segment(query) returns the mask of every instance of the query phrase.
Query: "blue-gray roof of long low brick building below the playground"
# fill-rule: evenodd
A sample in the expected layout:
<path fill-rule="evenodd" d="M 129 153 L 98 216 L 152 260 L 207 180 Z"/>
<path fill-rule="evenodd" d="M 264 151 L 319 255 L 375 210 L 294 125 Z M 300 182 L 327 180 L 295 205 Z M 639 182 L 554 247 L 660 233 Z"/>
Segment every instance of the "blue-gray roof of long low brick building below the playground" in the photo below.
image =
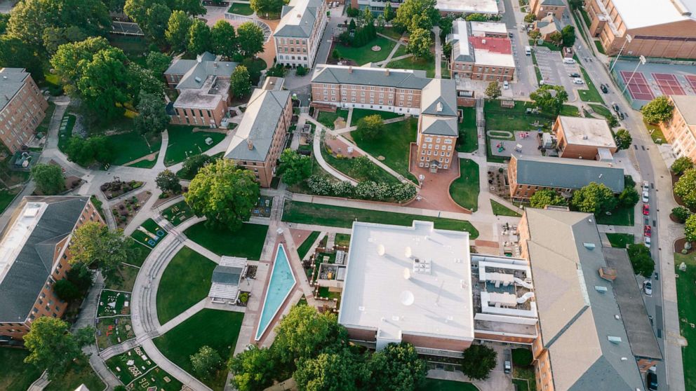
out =
<path fill-rule="evenodd" d="M 554 188 L 581 188 L 590 182 L 605 184 L 614 193 L 624 190 L 624 169 L 596 160 L 514 155 L 517 183 Z"/>

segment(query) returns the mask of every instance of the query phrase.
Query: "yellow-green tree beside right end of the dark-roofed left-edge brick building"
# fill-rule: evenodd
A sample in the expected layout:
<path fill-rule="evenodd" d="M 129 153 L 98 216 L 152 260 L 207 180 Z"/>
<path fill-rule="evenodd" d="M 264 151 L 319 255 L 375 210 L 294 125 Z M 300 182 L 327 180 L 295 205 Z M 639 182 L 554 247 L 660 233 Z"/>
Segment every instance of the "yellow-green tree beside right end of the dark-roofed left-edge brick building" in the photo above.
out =
<path fill-rule="evenodd" d="M 123 235 L 123 230 L 109 231 L 107 226 L 96 221 L 86 221 L 73 233 L 70 263 L 95 265 L 105 277 L 116 277 L 121 262 L 127 262 L 133 255 L 130 240 Z"/>

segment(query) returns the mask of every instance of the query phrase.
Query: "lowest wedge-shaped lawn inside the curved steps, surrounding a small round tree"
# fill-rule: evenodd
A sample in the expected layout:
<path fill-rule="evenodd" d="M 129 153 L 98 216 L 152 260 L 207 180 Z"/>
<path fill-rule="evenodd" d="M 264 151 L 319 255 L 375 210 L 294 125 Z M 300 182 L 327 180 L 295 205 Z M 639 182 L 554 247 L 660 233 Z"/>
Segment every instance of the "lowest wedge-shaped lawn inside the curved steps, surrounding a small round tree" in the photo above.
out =
<path fill-rule="evenodd" d="M 243 317 L 243 313 L 201 310 L 167 334 L 155 338 L 154 344 L 163 355 L 189 373 L 192 373 L 189 356 L 196 354 L 204 345 L 217 350 L 226 363 L 234 351 Z M 223 369 L 218 371 L 216 376 L 201 380 L 213 390 L 222 390 L 226 378 L 227 369 L 223 365 Z"/>

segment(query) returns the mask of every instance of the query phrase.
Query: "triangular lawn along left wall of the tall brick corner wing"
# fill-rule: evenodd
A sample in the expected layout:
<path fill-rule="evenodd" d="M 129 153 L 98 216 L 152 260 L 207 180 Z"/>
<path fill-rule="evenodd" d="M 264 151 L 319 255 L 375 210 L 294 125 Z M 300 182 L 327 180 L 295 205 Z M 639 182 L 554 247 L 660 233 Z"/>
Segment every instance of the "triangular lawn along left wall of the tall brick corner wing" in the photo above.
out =
<path fill-rule="evenodd" d="M 410 143 L 415 142 L 417 126 L 415 118 L 408 118 L 406 121 L 384 125 L 382 135 L 377 139 L 363 139 L 357 132 L 352 132 L 351 136 L 363 151 L 377 159 L 383 156 L 382 163 L 417 183 L 413 174 L 408 172 Z"/>

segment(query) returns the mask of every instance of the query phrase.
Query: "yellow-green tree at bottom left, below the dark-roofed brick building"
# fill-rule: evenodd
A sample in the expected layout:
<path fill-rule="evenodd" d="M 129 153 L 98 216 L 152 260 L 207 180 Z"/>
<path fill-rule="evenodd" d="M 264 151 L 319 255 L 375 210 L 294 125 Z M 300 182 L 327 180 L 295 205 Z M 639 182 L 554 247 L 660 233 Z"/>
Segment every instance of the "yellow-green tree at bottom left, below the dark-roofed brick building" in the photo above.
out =
<path fill-rule="evenodd" d="M 81 348 L 94 342 L 94 329 L 86 327 L 76 333 L 70 332 L 70 325 L 56 317 L 42 316 L 32 322 L 32 328 L 24 336 L 24 345 L 29 355 L 24 362 L 48 372 L 53 380 L 65 373 L 74 359 L 81 359 Z"/>

